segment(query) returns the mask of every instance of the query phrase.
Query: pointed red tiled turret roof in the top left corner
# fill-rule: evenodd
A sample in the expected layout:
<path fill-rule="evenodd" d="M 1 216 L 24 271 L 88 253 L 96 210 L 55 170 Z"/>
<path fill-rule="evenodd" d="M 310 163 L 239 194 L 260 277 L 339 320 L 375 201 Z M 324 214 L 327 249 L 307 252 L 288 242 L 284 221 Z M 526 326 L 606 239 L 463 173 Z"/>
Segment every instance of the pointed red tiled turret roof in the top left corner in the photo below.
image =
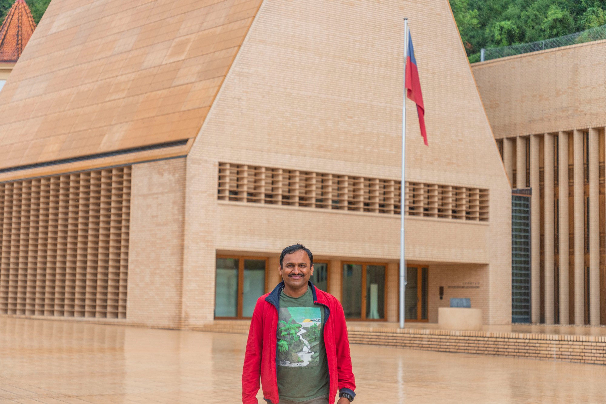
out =
<path fill-rule="evenodd" d="M 25 0 L 15 0 L 0 27 L 0 62 L 16 62 L 35 29 Z"/>

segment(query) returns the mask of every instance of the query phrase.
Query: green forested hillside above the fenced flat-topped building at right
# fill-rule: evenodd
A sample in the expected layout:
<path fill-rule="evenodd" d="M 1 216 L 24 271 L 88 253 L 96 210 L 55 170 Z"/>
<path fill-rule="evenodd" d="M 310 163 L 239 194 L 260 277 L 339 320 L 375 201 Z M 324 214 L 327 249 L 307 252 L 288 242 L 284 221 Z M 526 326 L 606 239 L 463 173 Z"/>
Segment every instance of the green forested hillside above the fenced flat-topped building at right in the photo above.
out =
<path fill-rule="evenodd" d="M 481 48 L 554 38 L 606 24 L 606 0 L 450 0 L 470 62 Z"/>

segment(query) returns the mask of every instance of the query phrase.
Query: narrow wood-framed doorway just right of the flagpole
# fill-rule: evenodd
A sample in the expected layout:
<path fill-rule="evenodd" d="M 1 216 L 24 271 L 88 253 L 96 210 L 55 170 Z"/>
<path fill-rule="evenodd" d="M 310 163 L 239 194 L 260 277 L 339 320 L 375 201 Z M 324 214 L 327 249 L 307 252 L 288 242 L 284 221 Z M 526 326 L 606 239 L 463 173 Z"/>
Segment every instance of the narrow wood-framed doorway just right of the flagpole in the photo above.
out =
<path fill-rule="evenodd" d="M 426 322 L 428 300 L 428 269 L 423 266 L 406 267 L 406 294 L 404 297 L 404 318 Z"/>

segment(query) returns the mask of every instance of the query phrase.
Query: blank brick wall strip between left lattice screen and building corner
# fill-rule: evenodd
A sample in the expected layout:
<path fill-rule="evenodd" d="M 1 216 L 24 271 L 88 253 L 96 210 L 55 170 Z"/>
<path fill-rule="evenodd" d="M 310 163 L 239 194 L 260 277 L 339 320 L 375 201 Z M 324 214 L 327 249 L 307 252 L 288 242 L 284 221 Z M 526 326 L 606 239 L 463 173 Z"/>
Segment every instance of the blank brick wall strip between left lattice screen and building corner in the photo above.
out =
<path fill-rule="evenodd" d="M 185 159 L 135 164 L 127 321 L 181 326 Z"/>

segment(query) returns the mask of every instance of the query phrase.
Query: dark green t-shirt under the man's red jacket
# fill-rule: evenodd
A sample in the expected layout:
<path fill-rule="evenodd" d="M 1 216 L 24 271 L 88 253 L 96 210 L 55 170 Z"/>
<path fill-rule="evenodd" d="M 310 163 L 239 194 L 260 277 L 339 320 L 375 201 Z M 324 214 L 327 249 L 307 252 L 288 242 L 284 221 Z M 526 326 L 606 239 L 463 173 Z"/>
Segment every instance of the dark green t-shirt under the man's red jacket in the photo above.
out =
<path fill-rule="evenodd" d="M 328 394 L 324 347 L 324 306 L 313 303 L 311 288 L 301 297 L 280 294 L 278 392 L 280 400 L 306 401 Z"/>

